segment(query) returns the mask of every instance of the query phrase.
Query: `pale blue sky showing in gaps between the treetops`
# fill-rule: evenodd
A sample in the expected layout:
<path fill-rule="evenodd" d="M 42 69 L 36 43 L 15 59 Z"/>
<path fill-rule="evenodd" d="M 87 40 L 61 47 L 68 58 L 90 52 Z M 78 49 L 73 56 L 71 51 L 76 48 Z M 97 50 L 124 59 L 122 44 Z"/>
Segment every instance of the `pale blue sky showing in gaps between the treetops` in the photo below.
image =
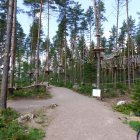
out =
<path fill-rule="evenodd" d="M 89 6 L 93 6 L 93 0 L 75 0 L 78 1 L 79 3 L 82 4 L 82 8 L 85 10 Z M 116 0 L 103 0 L 105 3 L 105 17 L 108 19 L 108 21 L 103 23 L 104 27 L 104 36 L 106 38 L 109 37 L 110 29 L 113 25 L 116 25 Z M 18 0 L 18 7 L 25 9 L 25 10 L 30 10 L 29 8 L 25 7 L 23 4 L 23 0 Z M 129 15 L 133 17 L 133 19 L 136 19 L 136 25 L 138 23 L 138 15 L 137 12 L 140 12 L 140 0 L 129 0 Z M 26 14 L 18 14 L 17 16 L 18 21 L 22 25 L 24 32 L 26 34 L 29 33 L 30 25 L 32 23 L 32 18 L 27 16 Z M 47 14 L 43 14 L 43 30 L 44 33 L 47 34 Z M 126 7 L 123 6 L 120 9 L 120 16 L 119 16 L 119 27 L 121 27 L 123 20 L 126 19 Z M 56 14 L 51 14 L 50 15 L 50 38 L 52 38 L 56 31 L 57 31 L 57 15 Z M 94 34 L 93 34 L 94 37 Z"/>

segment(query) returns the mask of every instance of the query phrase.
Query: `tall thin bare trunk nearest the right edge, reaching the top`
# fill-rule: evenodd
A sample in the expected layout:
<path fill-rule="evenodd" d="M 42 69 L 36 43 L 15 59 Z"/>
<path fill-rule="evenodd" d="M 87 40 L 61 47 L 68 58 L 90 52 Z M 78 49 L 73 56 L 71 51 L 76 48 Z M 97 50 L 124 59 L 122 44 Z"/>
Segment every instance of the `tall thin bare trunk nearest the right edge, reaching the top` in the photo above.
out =
<path fill-rule="evenodd" d="M 130 24 L 129 24 L 129 14 L 128 14 L 128 0 L 126 0 L 126 13 L 127 13 L 127 33 L 128 33 L 128 58 L 127 58 L 127 68 L 128 68 L 128 88 L 131 88 L 131 79 L 130 79 Z"/>

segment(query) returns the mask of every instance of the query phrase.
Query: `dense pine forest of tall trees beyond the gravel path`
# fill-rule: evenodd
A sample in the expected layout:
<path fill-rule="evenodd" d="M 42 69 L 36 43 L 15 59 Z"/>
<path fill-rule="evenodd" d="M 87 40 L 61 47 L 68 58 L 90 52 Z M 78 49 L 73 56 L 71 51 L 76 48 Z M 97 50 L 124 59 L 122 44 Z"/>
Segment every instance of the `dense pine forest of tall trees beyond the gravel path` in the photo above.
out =
<path fill-rule="evenodd" d="M 101 89 L 103 97 L 134 94 L 139 101 L 140 22 L 129 14 L 128 0 L 115 2 L 116 24 L 107 38 L 104 0 L 93 0 L 87 10 L 74 0 L 24 0 L 29 11 L 19 8 L 17 0 L 0 1 L 0 108 L 7 107 L 8 94 L 44 82 L 88 96 L 93 88 Z M 122 6 L 126 17 L 119 26 Z M 29 34 L 17 20 L 20 13 L 32 18 Z M 51 13 L 58 15 L 52 39 Z"/>

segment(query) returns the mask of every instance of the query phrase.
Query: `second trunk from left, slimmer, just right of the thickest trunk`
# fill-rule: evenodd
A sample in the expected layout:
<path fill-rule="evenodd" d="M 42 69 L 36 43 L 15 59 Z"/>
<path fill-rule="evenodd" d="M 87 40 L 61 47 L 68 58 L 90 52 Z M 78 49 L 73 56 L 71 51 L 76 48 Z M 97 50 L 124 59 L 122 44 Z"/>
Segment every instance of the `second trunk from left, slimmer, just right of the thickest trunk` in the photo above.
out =
<path fill-rule="evenodd" d="M 11 42 L 11 74 L 10 74 L 10 88 L 14 86 L 14 69 L 15 69 L 15 53 L 16 53 L 16 13 L 17 0 L 14 0 L 13 12 L 13 28 L 12 28 L 12 42 Z"/>

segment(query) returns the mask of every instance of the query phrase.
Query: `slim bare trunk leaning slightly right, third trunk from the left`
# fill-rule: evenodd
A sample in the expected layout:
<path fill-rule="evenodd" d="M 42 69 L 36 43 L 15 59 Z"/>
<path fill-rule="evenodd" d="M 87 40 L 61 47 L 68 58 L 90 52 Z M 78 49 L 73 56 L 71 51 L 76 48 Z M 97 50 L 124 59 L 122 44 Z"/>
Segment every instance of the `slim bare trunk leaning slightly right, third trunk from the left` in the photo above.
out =
<path fill-rule="evenodd" d="M 39 77 L 39 48 L 40 48 L 42 5 L 43 5 L 42 0 L 40 0 L 40 17 L 39 17 L 38 39 L 37 39 L 36 84 L 38 84 L 38 77 Z"/>

